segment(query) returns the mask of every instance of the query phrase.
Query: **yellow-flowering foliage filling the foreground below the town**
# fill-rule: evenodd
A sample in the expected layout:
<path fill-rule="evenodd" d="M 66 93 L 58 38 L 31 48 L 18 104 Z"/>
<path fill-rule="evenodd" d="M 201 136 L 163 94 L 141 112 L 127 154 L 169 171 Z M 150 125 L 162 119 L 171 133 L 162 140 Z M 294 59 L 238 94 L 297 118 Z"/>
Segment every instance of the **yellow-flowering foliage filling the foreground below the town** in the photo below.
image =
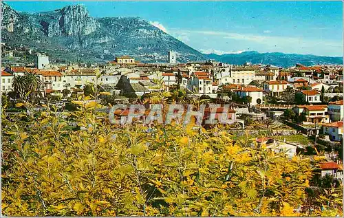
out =
<path fill-rule="evenodd" d="M 239 146 L 225 129 L 118 129 L 89 105 L 28 119 L 3 116 L 6 216 L 343 215 L 341 193 L 307 197 L 309 158 Z"/>

